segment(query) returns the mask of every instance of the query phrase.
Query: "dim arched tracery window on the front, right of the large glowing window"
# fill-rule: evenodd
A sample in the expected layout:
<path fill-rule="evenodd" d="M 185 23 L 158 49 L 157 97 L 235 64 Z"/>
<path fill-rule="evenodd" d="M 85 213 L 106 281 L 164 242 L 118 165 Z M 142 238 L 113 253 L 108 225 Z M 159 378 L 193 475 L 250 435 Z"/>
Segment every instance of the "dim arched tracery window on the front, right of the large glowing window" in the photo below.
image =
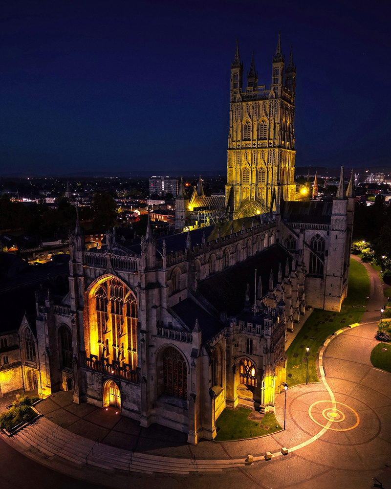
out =
<path fill-rule="evenodd" d="M 173 347 L 163 355 L 163 391 L 187 399 L 187 367 L 183 356 Z"/>

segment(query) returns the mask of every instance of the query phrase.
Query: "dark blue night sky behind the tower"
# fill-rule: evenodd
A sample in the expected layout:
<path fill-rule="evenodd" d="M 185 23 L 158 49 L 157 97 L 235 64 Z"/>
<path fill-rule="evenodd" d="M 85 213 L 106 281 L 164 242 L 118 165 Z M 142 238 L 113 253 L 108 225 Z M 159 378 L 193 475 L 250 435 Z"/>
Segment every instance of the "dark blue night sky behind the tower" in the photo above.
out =
<path fill-rule="evenodd" d="M 390 15 L 371 2 L 4 2 L 0 173 L 223 170 L 230 63 L 297 65 L 296 165 L 390 163 Z"/>

